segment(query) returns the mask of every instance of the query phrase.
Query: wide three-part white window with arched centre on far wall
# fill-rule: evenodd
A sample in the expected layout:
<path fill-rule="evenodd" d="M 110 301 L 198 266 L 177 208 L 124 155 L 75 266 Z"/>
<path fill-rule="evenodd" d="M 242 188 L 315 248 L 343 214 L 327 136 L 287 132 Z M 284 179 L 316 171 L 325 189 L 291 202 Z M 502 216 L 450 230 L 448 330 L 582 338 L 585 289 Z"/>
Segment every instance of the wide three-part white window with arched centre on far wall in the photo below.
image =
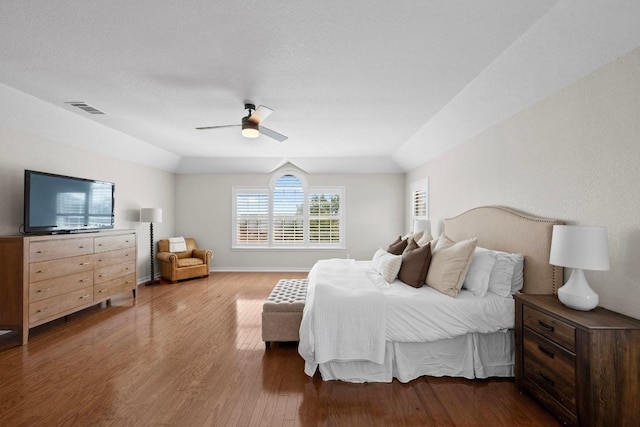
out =
<path fill-rule="evenodd" d="M 233 188 L 235 248 L 343 248 L 344 189 L 307 188 L 294 173 Z"/>

